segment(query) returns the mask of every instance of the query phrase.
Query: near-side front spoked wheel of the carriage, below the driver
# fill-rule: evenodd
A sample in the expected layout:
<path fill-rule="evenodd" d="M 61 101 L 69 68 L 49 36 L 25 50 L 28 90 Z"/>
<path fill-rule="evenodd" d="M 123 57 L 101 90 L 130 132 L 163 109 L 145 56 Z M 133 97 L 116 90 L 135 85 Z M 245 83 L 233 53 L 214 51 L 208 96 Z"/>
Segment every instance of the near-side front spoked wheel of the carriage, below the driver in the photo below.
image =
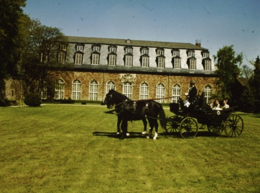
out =
<path fill-rule="evenodd" d="M 198 133 L 198 123 L 194 118 L 187 117 L 181 121 L 180 134 L 183 138 L 194 138 Z"/>

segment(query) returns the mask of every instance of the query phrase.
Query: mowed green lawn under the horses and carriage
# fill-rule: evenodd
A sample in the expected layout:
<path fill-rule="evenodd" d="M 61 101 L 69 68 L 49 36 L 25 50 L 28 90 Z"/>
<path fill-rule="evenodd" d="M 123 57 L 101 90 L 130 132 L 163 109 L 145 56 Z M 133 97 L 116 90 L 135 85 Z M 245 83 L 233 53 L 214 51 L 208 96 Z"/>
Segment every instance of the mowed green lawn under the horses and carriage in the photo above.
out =
<path fill-rule="evenodd" d="M 164 107 L 166 115 L 172 115 Z M 260 115 L 239 138 L 116 136 L 96 105 L 0 108 L 0 192 L 260 192 Z"/>

